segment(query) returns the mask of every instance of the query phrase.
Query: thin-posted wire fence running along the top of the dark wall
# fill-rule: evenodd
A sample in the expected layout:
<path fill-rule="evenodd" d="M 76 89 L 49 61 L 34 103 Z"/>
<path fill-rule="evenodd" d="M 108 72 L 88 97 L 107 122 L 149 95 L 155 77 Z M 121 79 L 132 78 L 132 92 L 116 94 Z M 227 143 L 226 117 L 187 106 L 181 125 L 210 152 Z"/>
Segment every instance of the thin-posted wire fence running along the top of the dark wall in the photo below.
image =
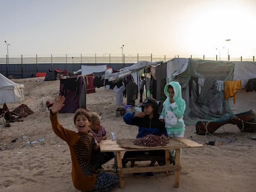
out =
<path fill-rule="evenodd" d="M 205 59 L 215 61 L 254 61 L 254 56 L 246 57 L 219 57 L 216 56 L 192 56 L 192 55 L 153 55 L 153 54 L 79 54 L 79 55 L 20 55 L 20 56 L 0 56 L 0 64 L 120 64 L 120 63 L 136 63 L 139 61 L 168 61 L 174 57 L 184 57 L 193 59 Z"/>

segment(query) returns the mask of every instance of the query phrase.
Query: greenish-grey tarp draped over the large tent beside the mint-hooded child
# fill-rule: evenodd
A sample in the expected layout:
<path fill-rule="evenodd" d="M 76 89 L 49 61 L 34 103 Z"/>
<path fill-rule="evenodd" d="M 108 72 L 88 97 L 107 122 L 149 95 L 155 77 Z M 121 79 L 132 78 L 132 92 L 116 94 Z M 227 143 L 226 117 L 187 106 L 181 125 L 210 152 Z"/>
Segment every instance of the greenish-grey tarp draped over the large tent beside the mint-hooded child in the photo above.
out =
<path fill-rule="evenodd" d="M 176 65 L 175 62 L 173 65 Z M 216 89 L 217 80 L 233 80 L 234 67 L 234 63 L 228 61 L 189 59 L 184 72 L 174 72 L 167 77 L 168 81 L 178 81 L 182 86 L 182 98 L 186 101 L 184 113 L 186 125 L 195 124 L 198 120 L 217 120 L 234 115 L 228 101 L 224 99 L 224 91 Z M 198 82 L 202 79 L 204 81 L 199 93 Z"/>

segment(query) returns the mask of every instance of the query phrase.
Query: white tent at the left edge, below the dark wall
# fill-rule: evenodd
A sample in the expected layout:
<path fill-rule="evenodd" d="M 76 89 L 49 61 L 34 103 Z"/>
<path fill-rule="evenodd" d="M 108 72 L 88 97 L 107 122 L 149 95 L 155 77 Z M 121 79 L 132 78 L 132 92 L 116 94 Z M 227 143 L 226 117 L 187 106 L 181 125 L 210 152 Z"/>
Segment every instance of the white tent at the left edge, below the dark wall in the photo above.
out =
<path fill-rule="evenodd" d="M 0 73 L 0 104 L 24 100 L 23 84 L 14 83 Z"/>

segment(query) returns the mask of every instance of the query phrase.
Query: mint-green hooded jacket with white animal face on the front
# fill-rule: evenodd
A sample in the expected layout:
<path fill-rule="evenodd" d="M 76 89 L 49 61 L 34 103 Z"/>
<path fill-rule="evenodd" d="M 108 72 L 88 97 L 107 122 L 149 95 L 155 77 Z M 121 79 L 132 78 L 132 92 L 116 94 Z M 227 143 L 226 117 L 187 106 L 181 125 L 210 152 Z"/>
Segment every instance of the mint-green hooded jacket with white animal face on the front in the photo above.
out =
<path fill-rule="evenodd" d="M 169 101 L 169 85 L 171 85 L 174 90 L 173 103 Z M 159 119 L 164 119 L 167 132 L 184 131 L 185 124 L 183 115 L 186 108 L 186 102 L 181 96 L 181 85 L 176 81 L 171 81 L 164 86 L 164 94 L 167 98 L 163 102 L 163 111 L 161 112 Z"/>

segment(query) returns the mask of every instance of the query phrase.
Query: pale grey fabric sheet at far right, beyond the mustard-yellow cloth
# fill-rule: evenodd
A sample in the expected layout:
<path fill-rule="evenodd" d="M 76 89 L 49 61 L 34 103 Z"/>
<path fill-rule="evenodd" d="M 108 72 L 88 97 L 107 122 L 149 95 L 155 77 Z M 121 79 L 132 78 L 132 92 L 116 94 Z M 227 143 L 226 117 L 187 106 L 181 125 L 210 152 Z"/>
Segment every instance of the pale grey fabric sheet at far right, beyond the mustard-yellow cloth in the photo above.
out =
<path fill-rule="evenodd" d="M 241 80 L 242 88 L 245 88 L 249 79 L 256 78 L 255 62 L 236 61 L 234 65 L 234 80 Z"/>

